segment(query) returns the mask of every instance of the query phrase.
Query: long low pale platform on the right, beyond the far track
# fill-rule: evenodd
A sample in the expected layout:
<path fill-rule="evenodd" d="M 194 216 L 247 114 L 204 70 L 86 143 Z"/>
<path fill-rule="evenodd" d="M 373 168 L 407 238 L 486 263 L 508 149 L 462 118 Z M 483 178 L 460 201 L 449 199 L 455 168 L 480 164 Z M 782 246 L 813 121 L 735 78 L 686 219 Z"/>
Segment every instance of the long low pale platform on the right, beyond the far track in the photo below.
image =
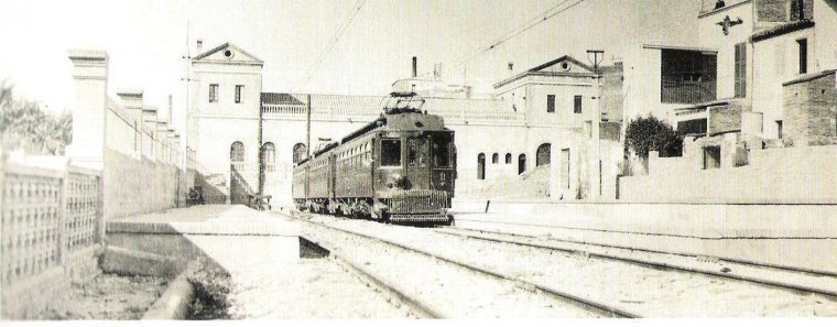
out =
<path fill-rule="evenodd" d="M 455 200 L 456 226 L 837 274 L 836 205 Z"/>

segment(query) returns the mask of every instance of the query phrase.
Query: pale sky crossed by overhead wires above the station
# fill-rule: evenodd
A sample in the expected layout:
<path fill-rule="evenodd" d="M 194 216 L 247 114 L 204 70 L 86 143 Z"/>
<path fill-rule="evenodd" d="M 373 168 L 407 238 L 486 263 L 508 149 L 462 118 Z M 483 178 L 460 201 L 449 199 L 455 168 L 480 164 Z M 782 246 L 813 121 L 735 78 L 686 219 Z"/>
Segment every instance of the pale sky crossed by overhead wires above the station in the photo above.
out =
<path fill-rule="evenodd" d="M 580 3 L 472 56 L 551 8 Z M 15 95 L 62 112 L 72 94 L 69 48 L 109 54 L 108 91 L 140 88 L 145 103 L 167 107 L 185 126 L 187 53 L 233 43 L 264 61 L 263 91 L 383 95 L 395 79 L 442 77 L 490 94 L 491 85 L 565 54 L 606 62 L 642 43 L 686 43 L 697 37 L 702 0 L 3 0 L 0 3 L 0 83 Z M 362 3 L 362 7 L 359 4 Z M 351 23 L 334 44 L 339 26 Z M 554 11 L 552 11 L 554 12 Z M 543 17 L 543 15 L 541 15 Z M 187 41 L 188 35 L 188 41 Z M 323 56 L 320 65 L 315 65 Z M 461 63 L 461 58 L 471 57 Z M 311 78 L 308 78 L 311 76 Z"/>

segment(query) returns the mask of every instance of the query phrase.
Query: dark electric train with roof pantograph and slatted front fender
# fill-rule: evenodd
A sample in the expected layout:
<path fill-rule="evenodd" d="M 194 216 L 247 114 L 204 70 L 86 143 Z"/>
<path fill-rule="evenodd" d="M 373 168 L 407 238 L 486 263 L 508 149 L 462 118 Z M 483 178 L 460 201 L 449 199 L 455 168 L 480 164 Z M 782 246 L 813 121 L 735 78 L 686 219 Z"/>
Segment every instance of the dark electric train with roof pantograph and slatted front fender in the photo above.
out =
<path fill-rule="evenodd" d="M 453 224 L 454 131 L 422 111 L 425 99 L 415 92 L 392 92 L 382 102 L 379 118 L 294 166 L 294 204 L 388 224 Z"/>

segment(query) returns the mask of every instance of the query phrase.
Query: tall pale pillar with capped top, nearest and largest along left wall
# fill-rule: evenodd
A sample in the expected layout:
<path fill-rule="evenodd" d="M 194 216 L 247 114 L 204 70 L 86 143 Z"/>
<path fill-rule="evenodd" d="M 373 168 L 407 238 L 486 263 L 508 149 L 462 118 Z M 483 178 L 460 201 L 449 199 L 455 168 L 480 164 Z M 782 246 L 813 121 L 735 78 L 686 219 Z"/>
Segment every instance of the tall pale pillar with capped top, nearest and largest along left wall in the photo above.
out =
<path fill-rule="evenodd" d="M 73 88 L 69 108 L 73 111 L 73 143 L 67 156 L 79 166 L 105 167 L 106 117 L 108 106 L 108 53 L 70 50 Z"/>

